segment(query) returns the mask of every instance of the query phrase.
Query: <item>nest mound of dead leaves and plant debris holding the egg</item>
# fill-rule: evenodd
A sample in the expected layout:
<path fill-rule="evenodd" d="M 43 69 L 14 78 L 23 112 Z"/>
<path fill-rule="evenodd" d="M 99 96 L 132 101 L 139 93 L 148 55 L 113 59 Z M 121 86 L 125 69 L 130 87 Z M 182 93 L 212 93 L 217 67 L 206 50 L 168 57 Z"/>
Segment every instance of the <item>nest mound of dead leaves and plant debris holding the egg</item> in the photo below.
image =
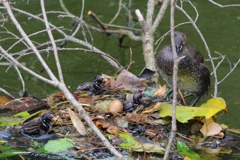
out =
<path fill-rule="evenodd" d="M 160 89 L 146 88 L 144 80 L 130 72 L 120 73 L 116 79 L 105 77 L 108 78 L 104 79 L 104 82 L 109 84 L 106 86 L 101 82 L 97 94 L 94 90 L 91 90 L 90 93 L 88 90 L 78 89 L 73 93 L 74 97 L 88 112 L 94 124 L 122 154 L 134 157 L 136 153 L 144 153 L 145 156 L 154 154 L 156 157 L 161 157 L 165 152 L 171 129 L 172 105 L 171 98 L 166 98 L 166 94 L 168 94 L 166 85 Z M 31 97 L 24 98 L 25 100 L 31 99 Z M 40 112 L 46 112 L 46 110 L 42 110 L 43 104 L 50 106 L 48 111 L 56 117 L 56 121 L 52 124 L 49 134 L 57 135 L 57 139 L 50 137 L 50 139 L 56 140 L 44 141 L 43 138 L 43 141 L 38 140 L 38 143 L 34 139 L 24 141 L 26 137 L 21 136 L 19 128 L 21 125 L 29 123 L 26 121 L 30 121 L 31 118 L 39 117 L 39 113 L 31 115 L 29 114 L 30 110 L 26 107 L 17 110 L 17 106 L 26 106 L 26 103 L 31 101 L 15 99 L 2 101 L 4 103 L 2 103 L 1 109 L 5 109 L 9 104 L 11 106 L 9 110 L 4 110 L 7 116 L 0 118 L 1 126 L 8 126 L 8 129 L 0 133 L 2 133 L 2 137 L 7 136 L 8 133 L 11 133 L 10 137 L 14 137 L 14 140 L 10 138 L 2 144 L 19 150 L 27 150 L 30 146 L 34 146 L 29 153 L 47 153 L 48 155 L 52 154 L 53 157 L 58 155 L 63 159 L 64 157 L 89 159 L 112 156 L 86 123 L 79 119 L 79 113 L 62 92 L 54 93 L 46 99 L 45 103 L 36 103 L 35 100 L 32 100 L 34 105 L 29 105 L 34 106 L 33 109 L 40 109 Z M 168 101 L 159 102 L 161 99 Z M 198 142 L 198 145 L 203 147 L 200 149 L 201 152 L 209 146 L 217 148 L 222 145 L 221 147 L 223 147 L 222 141 L 228 137 L 226 128 L 219 125 L 212 117 L 216 117 L 220 111 L 227 110 L 224 100 L 211 98 L 200 107 L 183 106 L 180 103 L 177 106 L 179 129 L 173 142 L 171 157 L 200 159 L 202 155 L 193 151 L 196 148 L 199 150 L 199 147 L 192 142 Z M 16 113 L 13 110 L 21 112 L 20 115 L 23 113 L 25 115 L 12 115 Z M 16 117 L 18 117 L 17 120 Z M 7 123 L 10 120 L 13 120 L 14 123 Z M 212 138 L 210 141 L 212 143 L 205 143 L 206 140 L 209 142 L 209 137 Z M 1 136 L 0 139 L 4 140 Z M 216 140 L 218 143 L 215 143 Z M 12 141 L 15 142 L 12 143 Z M 20 145 L 22 141 L 24 141 L 24 145 Z M 0 156 L 3 157 L 6 152 L 4 150 L 1 152 Z M 219 152 L 222 150 L 220 149 Z M 16 154 L 5 154 L 5 157 L 8 156 L 16 156 Z"/>

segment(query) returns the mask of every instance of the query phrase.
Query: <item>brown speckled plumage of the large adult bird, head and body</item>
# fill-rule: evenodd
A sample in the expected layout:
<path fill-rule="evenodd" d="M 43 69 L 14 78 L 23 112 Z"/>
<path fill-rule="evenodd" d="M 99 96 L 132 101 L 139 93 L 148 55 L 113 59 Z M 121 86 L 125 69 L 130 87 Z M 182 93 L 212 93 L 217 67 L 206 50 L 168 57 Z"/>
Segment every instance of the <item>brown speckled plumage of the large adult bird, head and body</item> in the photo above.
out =
<path fill-rule="evenodd" d="M 182 31 L 174 33 L 175 47 L 178 57 L 177 86 L 182 91 L 200 98 L 208 93 L 210 87 L 210 72 L 204 65 L 201 53 L 193 46 L 186 44 L 186 34 Z M 172 46 L 164 46 L 156 58 L 158 70 L 163 79 L 172 86 L 173 51 Z"/>

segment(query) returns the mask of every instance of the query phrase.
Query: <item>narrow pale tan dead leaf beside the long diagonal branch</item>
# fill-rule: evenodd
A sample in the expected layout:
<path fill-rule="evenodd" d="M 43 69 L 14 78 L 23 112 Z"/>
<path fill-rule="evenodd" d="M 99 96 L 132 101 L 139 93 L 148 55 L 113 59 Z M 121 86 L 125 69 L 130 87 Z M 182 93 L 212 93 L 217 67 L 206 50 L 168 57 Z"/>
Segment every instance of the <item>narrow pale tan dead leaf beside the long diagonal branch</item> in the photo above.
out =
<path fill-rule="evenodd" d="M 70 108 L 68 108 L 68 112 L 73 123 L 73 126 L 76 128 L 79 134 L 83 136 L 86 135 L 87 133 L 86 128 L 83 125 L 83 122 L 79 119 L 78 115 L 75 112 L 73 112 Z"/>

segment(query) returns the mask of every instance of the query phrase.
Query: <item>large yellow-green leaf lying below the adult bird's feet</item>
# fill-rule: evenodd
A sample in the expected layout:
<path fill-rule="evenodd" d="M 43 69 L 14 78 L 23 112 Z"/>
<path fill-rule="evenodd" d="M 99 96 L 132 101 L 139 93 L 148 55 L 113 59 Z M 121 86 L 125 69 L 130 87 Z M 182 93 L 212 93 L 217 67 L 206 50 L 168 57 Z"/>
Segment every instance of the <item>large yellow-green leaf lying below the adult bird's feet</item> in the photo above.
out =
<path fill-rule="evenodd" d="M 207 103 L 202 104 L 200 107 L 177 106 L 176 118 L 182 123 L 186 123 L 194 117 L 205 117 L 205 119 L 209 119 L 221 110 L 226 111 L 226 103 L 224 99 L 211 98 Z M 162 103 L 159 116 L 172 116 L 172 105 L 169 103 Z"/>

